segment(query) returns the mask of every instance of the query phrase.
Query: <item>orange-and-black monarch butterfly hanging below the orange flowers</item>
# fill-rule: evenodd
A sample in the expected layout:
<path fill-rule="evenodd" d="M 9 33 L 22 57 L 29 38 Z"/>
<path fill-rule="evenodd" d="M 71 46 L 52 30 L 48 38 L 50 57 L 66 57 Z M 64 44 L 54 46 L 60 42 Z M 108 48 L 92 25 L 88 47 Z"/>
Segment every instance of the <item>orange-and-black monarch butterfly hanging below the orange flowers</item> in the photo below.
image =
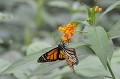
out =
<path fill-rule="evenodd" d="M 65 42 L 61 41 L 58 47 L 46 52 L 38 58 L 37 62 L 51 62 L 56 60 L 66 60 L 70 69 L 74 71 L 74 65 L 78 64 L 78 58 L 74 48 L 68 48 Z"/>

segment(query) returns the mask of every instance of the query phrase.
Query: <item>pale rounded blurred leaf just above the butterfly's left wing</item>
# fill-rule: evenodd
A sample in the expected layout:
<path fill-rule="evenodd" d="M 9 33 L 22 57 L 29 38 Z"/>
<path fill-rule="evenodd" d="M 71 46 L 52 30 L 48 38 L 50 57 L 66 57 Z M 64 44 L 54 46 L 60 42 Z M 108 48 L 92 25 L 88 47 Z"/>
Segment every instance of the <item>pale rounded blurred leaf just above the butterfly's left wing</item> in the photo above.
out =
<path fill-rule="evenodd" d="M 28 47 L 27 55 L 36 53 L 36 52 L 38 52 L 38 51 L 40 51 L 42 49 L 48 48 L 48 47 L 51 47 L 51 45 L 48 44 L 48 43 L 45 43 L 45 42 L 35 42 L 35 43 L 31 44 Z"/>

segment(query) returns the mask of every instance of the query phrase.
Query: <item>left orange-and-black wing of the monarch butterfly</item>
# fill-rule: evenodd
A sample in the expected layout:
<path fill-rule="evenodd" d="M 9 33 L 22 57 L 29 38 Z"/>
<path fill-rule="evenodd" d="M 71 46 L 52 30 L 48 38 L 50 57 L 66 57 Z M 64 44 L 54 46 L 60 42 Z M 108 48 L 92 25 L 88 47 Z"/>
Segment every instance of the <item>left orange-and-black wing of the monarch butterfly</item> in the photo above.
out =
<path fill-rule="evenodd" d="M 64 60 L 64 56 L 60 53 L 60 49 L 58 47 L 46 52 L 43 54 L 37 61 L 38 62 L 50 62 L 56 60 Z"/>

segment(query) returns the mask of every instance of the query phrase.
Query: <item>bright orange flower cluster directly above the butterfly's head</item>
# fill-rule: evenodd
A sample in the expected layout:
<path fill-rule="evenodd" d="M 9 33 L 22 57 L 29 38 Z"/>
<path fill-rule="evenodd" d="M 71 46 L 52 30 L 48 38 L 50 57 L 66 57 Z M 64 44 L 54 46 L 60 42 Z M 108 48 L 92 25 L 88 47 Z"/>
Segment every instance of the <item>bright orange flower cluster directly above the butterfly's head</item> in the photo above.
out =
<path fill-rule="evenodd" d="M 61 37 L 63 41 L 69 41 L 71 36 L 74 35 L 74 29 L 76 28 L 75 23 L 69 23 L 64 27 L 59 27 L 58 29 L 64 33 L 64 36 Z"/>

